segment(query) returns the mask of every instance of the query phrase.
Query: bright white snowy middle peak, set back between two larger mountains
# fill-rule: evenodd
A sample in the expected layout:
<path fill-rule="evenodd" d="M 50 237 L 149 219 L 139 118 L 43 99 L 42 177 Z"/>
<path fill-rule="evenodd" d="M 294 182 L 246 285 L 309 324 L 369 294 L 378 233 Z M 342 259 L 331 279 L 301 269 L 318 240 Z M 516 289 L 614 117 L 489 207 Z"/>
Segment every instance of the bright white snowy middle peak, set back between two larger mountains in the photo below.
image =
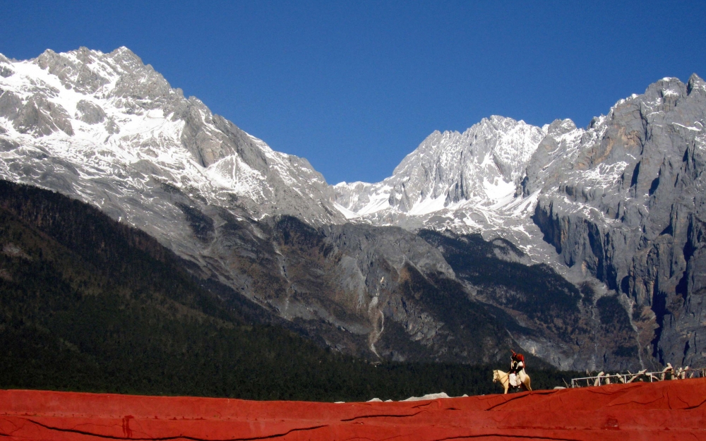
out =
<path fill-rule="evenodd" d="M 336 186 L 336 202 L 383 223 L 469 203 L 491 207 L 509 202 L 544 135 L 542 128 L 525 121 L 495 115 L 463 133 L 435 131 L 390 178 Z"/>

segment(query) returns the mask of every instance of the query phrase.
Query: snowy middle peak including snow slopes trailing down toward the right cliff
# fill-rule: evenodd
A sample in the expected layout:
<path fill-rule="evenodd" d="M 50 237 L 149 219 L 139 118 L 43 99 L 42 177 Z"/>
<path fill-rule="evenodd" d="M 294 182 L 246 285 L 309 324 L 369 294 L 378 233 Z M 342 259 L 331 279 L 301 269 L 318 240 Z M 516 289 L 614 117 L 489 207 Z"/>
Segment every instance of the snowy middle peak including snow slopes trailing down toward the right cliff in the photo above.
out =
<path fill-rule="evenodd" d="M 336 203 L 353 221 L 502 236 L 544 260 L 530 240 L 536 198 L 520 183 L 548 127 L 491 116 L 464 133 L 435 131 L 384 181 L 334 186 Z"/>

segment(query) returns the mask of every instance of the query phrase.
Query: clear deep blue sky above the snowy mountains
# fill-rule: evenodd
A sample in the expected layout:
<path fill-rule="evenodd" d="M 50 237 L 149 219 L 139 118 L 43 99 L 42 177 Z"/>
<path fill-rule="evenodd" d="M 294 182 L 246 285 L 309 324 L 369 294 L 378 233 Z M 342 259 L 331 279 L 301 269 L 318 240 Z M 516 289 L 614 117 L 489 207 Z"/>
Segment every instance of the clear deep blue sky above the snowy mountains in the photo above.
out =
<path fill-rule="evenodd" d="M 586 126 L 659 78 L 706 76 L 705 1 L 534 3 L 0 0 L 0 52 L 126 46 L 329 183 L 379 181 L 437 129 Z"/>

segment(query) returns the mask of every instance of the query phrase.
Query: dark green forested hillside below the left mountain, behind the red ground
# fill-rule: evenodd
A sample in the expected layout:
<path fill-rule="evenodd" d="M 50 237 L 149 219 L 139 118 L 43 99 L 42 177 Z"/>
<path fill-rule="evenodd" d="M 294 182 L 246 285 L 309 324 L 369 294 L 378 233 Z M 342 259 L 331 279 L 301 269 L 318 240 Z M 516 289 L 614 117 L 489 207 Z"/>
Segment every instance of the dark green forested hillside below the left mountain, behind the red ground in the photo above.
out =
<path fill-rule="evenodd" d="M 0 387 L 244 399 L 498 391 L 491 368 L 372 364 L 222 300 L 147 234 L 58 193 L 0 181 Z M 532 370 L 535 387 L 569 373 Z"/>

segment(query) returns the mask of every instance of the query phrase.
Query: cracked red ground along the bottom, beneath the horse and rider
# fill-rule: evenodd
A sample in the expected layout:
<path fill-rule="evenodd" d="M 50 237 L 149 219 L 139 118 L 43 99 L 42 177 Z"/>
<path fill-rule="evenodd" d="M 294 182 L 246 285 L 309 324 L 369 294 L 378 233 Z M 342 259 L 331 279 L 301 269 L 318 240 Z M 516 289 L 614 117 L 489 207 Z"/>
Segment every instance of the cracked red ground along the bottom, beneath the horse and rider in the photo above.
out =
<path fill-rule="evenodd" d="M 706 440 L 706 379 L 390 403 L 0 390 L 0 440 Z"/>

